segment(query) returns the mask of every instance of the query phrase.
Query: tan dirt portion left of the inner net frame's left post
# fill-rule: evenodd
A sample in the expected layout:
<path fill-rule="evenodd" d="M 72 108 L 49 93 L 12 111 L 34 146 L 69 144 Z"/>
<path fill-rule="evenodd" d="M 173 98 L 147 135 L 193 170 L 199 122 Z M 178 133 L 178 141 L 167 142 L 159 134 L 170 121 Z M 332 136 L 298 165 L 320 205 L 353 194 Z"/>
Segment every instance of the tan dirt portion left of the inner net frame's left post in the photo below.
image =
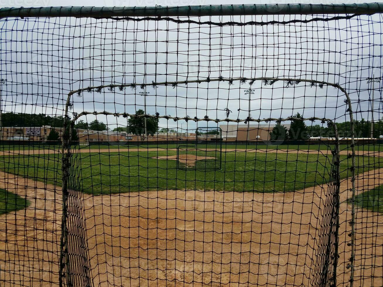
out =
<path fill-rule="evenodd" d="M 58 285 L 61 188 L 2 171 L 0 188 L 31 203 L 0 215 L 0 285 Z"/>

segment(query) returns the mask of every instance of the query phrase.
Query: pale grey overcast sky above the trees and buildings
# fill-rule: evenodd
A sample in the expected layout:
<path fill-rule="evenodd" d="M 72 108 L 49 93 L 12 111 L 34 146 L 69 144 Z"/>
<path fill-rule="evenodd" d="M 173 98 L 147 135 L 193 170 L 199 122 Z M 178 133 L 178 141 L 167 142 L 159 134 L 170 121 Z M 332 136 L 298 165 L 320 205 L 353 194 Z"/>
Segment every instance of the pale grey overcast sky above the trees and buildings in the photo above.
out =
<path fill-rule="evenodd" d="M 61 6 L 52 0 L 1 1 L 2 7 Z M 344 2 L 344 1 L 342 1 Z M 354 2 L 354 1 L 352 1 Z M 364 1 L 363 1 L 364 2 Z M 76 6 L 231 4 L 207 0 L 67 1 Z M 247 3 L 247 2 L 243 2 Z M 253 2 L 254 3 L 254 2 Z M 263 2 L 274 3 L 274 2 Z M 281 3 L 281 2 L 278 2 Z M 315 3 L 315 2 L 303 2 Z M 323 1 L 321 3 L 324 3 Z M 332 1 L 332 3 L 337 3 Z M 326 18 L 326 15 L 316 15 Z M 213 16 L 195 21 L 307 20 L 309 15 Z M 180 17 L 187 20 L 186 17 Z M 67 93 L 110 83 L 151 83 L 228 77 L 290 77 L 339 83 L 353 100 L 355 117 L 371 118 L 371 84 L 381 77 L 381 15 L 311 23 L 216 26 L 169 21 L 115 21 L 93 18 L 29 18 L 0 21 L 3 111 L 62 114 Z M 381 81 L 383 82 L 383 81 Z M 381 85 L 375 83 L 375 119 L 382 117 Z M 344 95 L 329 86 L 277 82 L 189 83 L 116 89 L 73 96 L 73 110 L 225 118 L 348 117 Z M 95 116 L 83 118 L 92 121 Z M 97 116 L 110 127 L 126 119 Z M 161 127 L 195 129 L 195 123 L 161 120 Z M 201 125 L 201 124 L 199 124 Z M 202 124 L 205 126 L 206 124 Z"/>

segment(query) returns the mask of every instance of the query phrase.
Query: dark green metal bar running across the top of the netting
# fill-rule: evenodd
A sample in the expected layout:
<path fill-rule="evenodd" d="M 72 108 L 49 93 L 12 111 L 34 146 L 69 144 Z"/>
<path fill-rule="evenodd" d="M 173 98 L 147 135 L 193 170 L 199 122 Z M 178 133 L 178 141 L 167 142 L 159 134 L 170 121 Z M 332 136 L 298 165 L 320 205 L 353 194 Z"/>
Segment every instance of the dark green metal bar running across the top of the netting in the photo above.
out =
<path fill-rule="evenodd" d="M 180 7 L 41 7 L 1 8 L 0 19 L 9 17 L 121 17 L 121 16 L 214 16 L 282 14 L 375 14 L 383 3 L 359 4 L 254 4 Z"/>

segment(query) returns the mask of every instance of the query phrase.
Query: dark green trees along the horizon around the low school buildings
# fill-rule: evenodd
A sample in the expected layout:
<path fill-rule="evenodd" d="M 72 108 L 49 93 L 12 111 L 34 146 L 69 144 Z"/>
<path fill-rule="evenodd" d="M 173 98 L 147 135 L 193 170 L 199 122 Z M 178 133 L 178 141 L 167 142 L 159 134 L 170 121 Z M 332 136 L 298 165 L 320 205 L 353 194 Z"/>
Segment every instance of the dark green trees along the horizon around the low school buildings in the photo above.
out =
<path fill-rule="evenodd" d="M 143 115 L 144 111 L 142 109 L 137 110 L 137 115 Z M 303 119 L 300 113 L 294 115 L 296 118 Z M 325 124 L 313 124 L 307 126 L 305 122 L 299 120 L 293 120 L 290 123 L 290 129 L 287 130 L 282 123 L 277 123 L 273 130 L 270 132 L 270 140 L 307 140 L 309 137 L 334 137 L 333 127 L 328 127 Z M 41 127 L 41 126 L 51 126 L 51 127 L 63 127 L 64 126 L 64 117 L 63 116 L 49 116 L 47 114 L 27 114 L 27 113 L 3 113 L 2 114 L 2 126 L 3 127 Z M 338 129 L 339 137 L 350 137 L 351 128 L 350 122 L 336 122 Z M 380 135 L 383 135 L 383 117 L 380 121 L 376 121 L 373 124 L 373 137 L 379 138 Z M 110 130 L 107 125 L 95 119 L 94 121 L 88 123 L 83 120 L 79 120 L 75 124 L 74 134 L 72 135 L 73 140 L 78 140 L 77 129 L 89 129 L 89 130 Z M 360 121 L 354 122 L 355 128 L 355 137 L 370 137 L 371 135 L 371 122 L 365 121 L 362 119 Z M 146 119 L 146 129 L 148 135 L 154 135 L 158 132 L 177 132 L 175 129 L 166 129 L 162 128 L 159 130 L 158 119 L 155 117 L 148 117 Z M 53 130 L 52 130 L 53 131 Z M 128 119 L 128 125 L 126 127 L 116 127 L 113 131 L 118 132 L 127 132 L 130 134 L 135 134 L 142 136 L 145 134 L 145 119 L 144 117 L 130 117 Z M 216 132 L 216 131 L 212 131 Z M 59 134 L 53 132 L 48 139 L 59 140 Z M 197 131 L 196 131 L 197 133 Z M 200 132 L 198 132 L 200 133 Z M 207 132 L 210 133 L 210 132 Z"/>

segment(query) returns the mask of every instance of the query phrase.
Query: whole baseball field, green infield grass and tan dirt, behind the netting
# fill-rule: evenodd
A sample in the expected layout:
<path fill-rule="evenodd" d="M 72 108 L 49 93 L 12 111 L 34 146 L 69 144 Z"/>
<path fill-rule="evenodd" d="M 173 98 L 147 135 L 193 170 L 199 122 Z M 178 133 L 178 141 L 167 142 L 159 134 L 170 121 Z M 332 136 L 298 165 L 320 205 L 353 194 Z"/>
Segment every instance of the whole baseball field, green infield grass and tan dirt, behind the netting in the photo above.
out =
<path fill-rule="evenodd" d="M 382 153 L 358 153 L 357 196 L 373 192 L 375 199 L 372 208 L 357 204 L 354 284 L 377 286 L 383 284 L 376 267 L 382 265 L 381 193 L 366 187 L 383 184 Z M 349 280 L 347 155 L 340 152 L 340 285 Z M 226 148 L 221 169 L 212 171 L 177 170 L 176 157 L 174 148 L 72 151 L 69 184 L 79 194 L 95 286 L 315 284 L 311 273 L 331 186 L 329 150 Z M 20 197 L 0 215 L 0 279 L 58 284 L 60 150 L 3 150 L 0 170 L 2 194 Z"/>

